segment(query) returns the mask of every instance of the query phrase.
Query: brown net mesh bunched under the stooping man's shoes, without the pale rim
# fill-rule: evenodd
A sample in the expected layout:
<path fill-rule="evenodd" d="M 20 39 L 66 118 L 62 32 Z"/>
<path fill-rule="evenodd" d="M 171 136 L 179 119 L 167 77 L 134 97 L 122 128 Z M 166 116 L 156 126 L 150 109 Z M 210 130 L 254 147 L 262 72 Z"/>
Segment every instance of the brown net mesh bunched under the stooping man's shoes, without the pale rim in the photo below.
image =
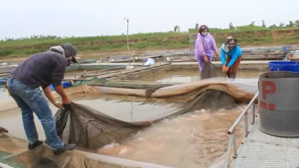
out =
<path fill-rule="evenodd" d="M 7 133 L 0 133 L 0 163 L 12 168 L 121 168 L 115 163 L 108 164 L 98 158 L 87 158 L 76 150 L 55 156 L 45 144 L 28 150 L 24 143 L 27 144 Z"/>

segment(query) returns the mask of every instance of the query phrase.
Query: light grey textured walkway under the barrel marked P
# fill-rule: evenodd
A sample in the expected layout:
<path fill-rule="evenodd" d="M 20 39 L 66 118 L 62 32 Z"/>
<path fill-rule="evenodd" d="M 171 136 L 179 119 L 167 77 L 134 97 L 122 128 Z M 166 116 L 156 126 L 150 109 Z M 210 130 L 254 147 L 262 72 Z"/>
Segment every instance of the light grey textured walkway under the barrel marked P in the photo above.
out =
<path fill-rule="evenodd" d="M 259 123 L 258 116 L 231 167 L 299 168 L 299 138 L 271 136 L 259 129 Z"/>

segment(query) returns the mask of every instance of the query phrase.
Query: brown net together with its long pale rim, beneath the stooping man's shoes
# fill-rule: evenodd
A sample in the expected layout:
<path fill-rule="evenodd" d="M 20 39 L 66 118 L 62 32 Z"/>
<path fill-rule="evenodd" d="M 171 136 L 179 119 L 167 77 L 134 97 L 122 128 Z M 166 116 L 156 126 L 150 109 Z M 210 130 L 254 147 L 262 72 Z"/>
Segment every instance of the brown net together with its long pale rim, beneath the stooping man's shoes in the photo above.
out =
<path fill-rule="evenodd" d="M 0 168 L 167 168 L 79 150 L 55 156 L 46 144 L 34 150 L 28 150 L 27 144 L 0 133 Z"/>

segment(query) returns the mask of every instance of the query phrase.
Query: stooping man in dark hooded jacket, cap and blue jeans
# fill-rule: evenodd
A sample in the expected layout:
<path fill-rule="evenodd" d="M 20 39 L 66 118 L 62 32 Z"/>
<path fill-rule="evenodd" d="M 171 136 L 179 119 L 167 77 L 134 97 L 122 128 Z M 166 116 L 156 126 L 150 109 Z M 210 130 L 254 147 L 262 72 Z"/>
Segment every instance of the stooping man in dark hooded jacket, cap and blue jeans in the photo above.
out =
<path fill-rule="evenodd" d="M 76 147 L 75 144 L 64 144 L 58 137 L 55 120 L 45 98 L 46 96 L 58 108 L 62 108 L 63 104 L 70 104 L 70 99 L 65 94 L 61 82 L 65 68 L 70 61 L 77 63 L 76 55 L 77 49 L 69 43 L 54 46 L 50 48 L 50 51 L 30 56 L 18 65 L 8 77 L 7 89 L 22 111 L 23 125 L 30 150 L 43 143 L 38 140 L 33 112 L 41 121 L 47 143 L 55 155 Z M 62 97 L 62 103 L 53 97 L 51 84 Z M 44 94 L 40 91 L 39 86 L 43 88 Z"/>

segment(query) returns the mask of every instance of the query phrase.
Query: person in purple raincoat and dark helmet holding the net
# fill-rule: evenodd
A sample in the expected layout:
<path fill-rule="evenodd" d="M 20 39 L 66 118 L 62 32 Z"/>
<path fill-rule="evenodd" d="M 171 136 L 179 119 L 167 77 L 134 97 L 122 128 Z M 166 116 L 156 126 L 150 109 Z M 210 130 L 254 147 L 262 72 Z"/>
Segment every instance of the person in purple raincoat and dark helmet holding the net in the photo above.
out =
<path fill-rule="evenodd" d="M 195 42 L 195 60 L 198 62 L 199 70 L 202 71 L 205 62 L 212 61 L 213 52 L 219 57 L 218 49 L 214 38 L 209 34 L 209 28 L 206 25 L 199 27 L 199 33 Z"/>

